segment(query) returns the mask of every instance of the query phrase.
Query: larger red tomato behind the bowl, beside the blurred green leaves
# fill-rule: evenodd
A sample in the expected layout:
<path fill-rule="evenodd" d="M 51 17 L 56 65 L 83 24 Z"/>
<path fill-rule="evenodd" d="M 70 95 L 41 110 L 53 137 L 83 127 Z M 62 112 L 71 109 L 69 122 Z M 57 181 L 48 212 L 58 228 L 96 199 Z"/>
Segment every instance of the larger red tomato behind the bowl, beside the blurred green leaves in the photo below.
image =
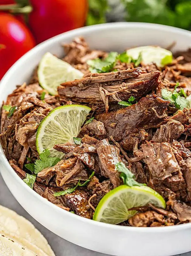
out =
<path fill-rule="evenodd" d="M 29 26 L 37 43 L 82 27 L 86 21 L 87 0 L 30 0 L 30 3 L 33 11 Z"/>

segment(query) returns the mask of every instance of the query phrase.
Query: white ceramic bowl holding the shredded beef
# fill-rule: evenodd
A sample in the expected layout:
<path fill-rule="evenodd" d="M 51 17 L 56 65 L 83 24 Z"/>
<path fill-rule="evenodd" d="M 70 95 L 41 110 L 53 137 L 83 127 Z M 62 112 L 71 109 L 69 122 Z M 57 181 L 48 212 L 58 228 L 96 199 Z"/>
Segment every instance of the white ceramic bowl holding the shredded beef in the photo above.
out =
<path fill-rule="evenodd" d="M 176 41 L 174 50 L 191 46 L 191 32 L 149 23 L 108 23 L 84 27 L 51 38 L 19 59 L 0 83 L 0 104 L 17 84 L 27 81 L 46 52 L 63 55 L 62 43 L 83 36 L 91 48 L 122 52 L 130 46 L 160 45 Z M 136 228 L 95 222 L 50 203 L 30 189 L 9 165 L 0 148 L 1 174 L 13 196 L 43 226 L 87 249 L 118 256 L 165 256 L 191 251 L 191 223 Z"/>

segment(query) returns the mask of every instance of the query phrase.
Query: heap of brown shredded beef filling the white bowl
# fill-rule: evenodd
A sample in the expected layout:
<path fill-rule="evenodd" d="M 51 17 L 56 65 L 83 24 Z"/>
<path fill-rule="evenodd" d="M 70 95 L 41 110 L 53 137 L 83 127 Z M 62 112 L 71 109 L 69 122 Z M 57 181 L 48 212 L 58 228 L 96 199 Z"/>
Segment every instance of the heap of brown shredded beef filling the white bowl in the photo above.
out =
<path fill-rule="evenodd" d="M 175 53 L 172 63 L 162 68 L 116 59 L 108 72 L 91 73 L 87 61 L 104 60 L 108 52 L 90 49 L 82 37 L 63 48 L 63 60 L 84 73 L 81 79 L 63 80 L 58 95 L 51 96 L 39 85 L 36 68 L 29 83 L 17 86 L 3 102 L 12 113 L 2 106 L 0 142 L 14 171 L 24 181 L 31 175 L 26 164 L 39 159 L 36 133 L 51 110 L 87 105 L 91 112 L 78 135 L 80 142 L 56 144 L 54 149 L 64 157 L 36 173 L 33 189 L 58 207 L 92 219 L 101 198 L 123 184 L 116 170 L 121 162 L 137 182 L 161 194 L 167 208 L 130 208 L 135 215 L 119 225 L 191 222 L 191 108 L 178 109 L 162 98 L 163 89 L 190 95 L 191 49 Z"/>

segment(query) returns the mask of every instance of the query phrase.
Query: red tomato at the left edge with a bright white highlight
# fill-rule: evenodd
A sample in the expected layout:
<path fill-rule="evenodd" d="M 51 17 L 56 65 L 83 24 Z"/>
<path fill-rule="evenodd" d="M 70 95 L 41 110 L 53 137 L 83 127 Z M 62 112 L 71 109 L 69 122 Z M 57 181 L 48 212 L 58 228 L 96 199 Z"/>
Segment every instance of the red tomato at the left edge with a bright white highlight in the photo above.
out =
<path fill-rule="evenodd" d="M 0 13 L 0 80 L 23 54 L 35 46 L 30 30 L 8 13 Z"/>

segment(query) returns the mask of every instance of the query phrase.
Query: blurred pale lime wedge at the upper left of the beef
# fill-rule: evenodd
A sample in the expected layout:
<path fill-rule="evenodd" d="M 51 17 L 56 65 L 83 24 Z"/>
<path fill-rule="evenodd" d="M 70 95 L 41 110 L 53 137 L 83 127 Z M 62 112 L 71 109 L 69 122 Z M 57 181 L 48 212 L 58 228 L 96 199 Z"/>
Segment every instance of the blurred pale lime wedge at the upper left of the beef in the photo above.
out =
<path fill-rule="evenodd" d="M 49 94 L 57 94 L 57 87 L 66 81 L 82 78 L 83 73 L 70 64 L 56 58 L 50 52 L 44 54 L 38 67 L 39 84 Z"/>

